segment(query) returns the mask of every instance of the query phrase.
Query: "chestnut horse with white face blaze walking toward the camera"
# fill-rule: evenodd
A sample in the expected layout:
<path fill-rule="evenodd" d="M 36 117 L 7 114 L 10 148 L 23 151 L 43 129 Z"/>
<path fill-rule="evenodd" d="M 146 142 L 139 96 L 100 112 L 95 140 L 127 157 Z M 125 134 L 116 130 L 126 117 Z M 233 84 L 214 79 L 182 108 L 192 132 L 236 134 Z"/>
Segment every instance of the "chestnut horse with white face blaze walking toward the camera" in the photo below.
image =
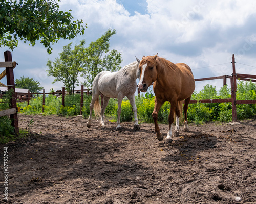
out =
<path fill-rule="evenodd" d="M 174 113 L 176 114 L 175 135 L 179 135 L 179 117 L 182 114 L 182 104 L 184 104 L 185 126 L 184 131 L 188 131 L 187 108 L 195 90 L 195 80 L 190 67 L 184 63 L 174 64 L 164 58 L 155 56 L 143 56 L 140 64 L 140 82 L 138 87 L 140 91 L 146 92 L 148 86 L 153 82 L 155 93 L 155 108 L 152 117 L 155 123 L 157 139 L 163 140 L 163 134 L 160 132 L 157 124 L 157 115 L 165 101 L 170 102 L 170 113 L 168 117 L 169 131 L 166 141 L 172 142 L 172 124 L 174 122 Z"/>

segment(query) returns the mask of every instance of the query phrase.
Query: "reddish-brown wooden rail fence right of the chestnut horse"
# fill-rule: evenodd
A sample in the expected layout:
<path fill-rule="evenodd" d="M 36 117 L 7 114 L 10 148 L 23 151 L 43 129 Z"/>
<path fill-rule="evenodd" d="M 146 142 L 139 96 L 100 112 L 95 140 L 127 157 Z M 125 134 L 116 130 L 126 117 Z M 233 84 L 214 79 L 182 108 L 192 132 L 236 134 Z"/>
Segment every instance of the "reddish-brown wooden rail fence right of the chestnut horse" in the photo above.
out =
<path fill-rule="evenodd" d="M 245 81 L 252 81 L 256 82 L 256 75 L 250 75 L 250 74 L 241 74 L 236 73 L 236 67 L 235 67 L 235 59 L 234 54 L 232 55 L 232 69 L 233 73 L 232 75 L 223 75 L 220 77 L 209 77 L 209 78 L 201 78 L 201 79 L 195 79 L 195 81 L 205 81 L 205 80 L 216 80 L 216 79 L 223 79 L 223 85 L 227 83 L 227 78 L 230 79 L 230 85 L 231 85 L 231 98 L 226 99 L 207 99 L 207 100 L 190 100 L 190 104 L 196 104 L 196 103 L 232 103 L 232 121 L 237 122 L 237 104 L 256 104 L 256 100 L 236 100 L 236 92 L 237 92 L 237 79 L 239 80 L 245 80 Z M 153 85 L 153 84 L 152 84 Z M 139 88 L 138 88 L 138 96 L 140 94 Z"/>

